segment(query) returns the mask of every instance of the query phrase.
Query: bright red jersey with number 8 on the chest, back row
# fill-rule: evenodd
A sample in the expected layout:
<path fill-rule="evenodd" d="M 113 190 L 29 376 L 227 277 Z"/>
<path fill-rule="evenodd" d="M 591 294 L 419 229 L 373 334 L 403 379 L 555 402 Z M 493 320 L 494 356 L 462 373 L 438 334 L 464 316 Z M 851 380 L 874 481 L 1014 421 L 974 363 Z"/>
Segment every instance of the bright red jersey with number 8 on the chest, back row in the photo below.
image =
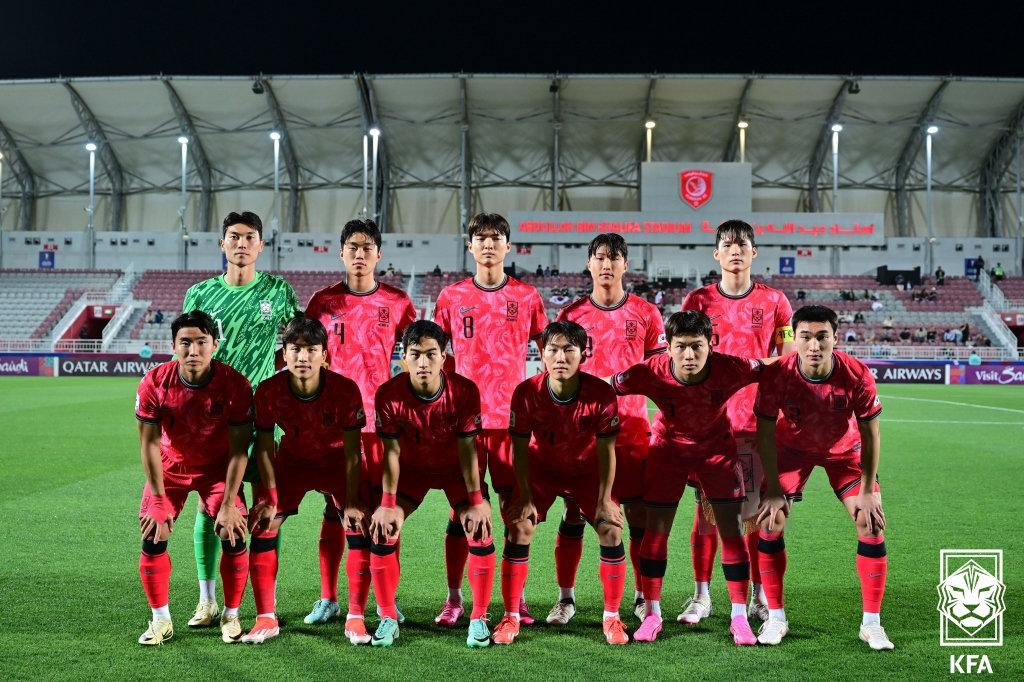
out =
<path fill-rule="evenodd" d="M 548 324 L 541 294 L 514 278 L 494 289 L 469 278 L 437 295 L 434 322 L 452 338 L 456 371 L 485 389 L 483 428 L 508 428 L 512 391 L 526 377 L 526 344 Z"/>

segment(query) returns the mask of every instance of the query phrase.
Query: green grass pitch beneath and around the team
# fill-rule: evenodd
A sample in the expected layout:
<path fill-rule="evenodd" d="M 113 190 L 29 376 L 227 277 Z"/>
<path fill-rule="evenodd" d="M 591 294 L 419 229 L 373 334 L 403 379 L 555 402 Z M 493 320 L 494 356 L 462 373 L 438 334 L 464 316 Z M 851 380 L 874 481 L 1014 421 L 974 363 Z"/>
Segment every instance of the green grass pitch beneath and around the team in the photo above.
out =
<path fill-rule="evenodd" d="M 280 637 L 261 646 L 228 646 L 217 630 L 185 626 L 198 595 L 193 496 L 170 544 L 175 636 L 161 647 L 136 644 L 150 615 L 137 568 L 142 473 L 132 416 L 136 383 L 0 379 L 0 674 L 5 679 L 916 680 L 948 677 L 951 653 L 987 654 L 994 678 L 1024 679 L 1020 388 L 880 386 L 890 556 L 883 624 L 894 651 L 871 651 L 857 639 L 855 532 L 821 472 L 812 476 L 786 532 L 792 632 L 780 646 L 733 645 L 720 571 L 712 585 L 715 615 L 697 627 L 674 622 L 692 587 L 693 511 L 687 494 L 670 543 L 668 617 L 657 642 L 604 643 L 597 542 L 589 534 L 577 588 L 580 610 L 568 627 L 537 626 L 524 629 L 512 646 L 471 650 L 464 625 L 454 631 L 433 625 L 444 597 L 446 521 L 436 492 L 403 531 L 399 602 L 408 622 L 394 647 L 352 647 L 337 621 L 302 623 L 319 589 L 317 496 L 307 497 L 300 515 L 284 526 Z M 537 616 L 557 594 L 554 529 L 552 523 L 542 525 L 532 546 L 526 597 Z M 1001 647 L 939 645 L 939 551 L 953 548 L 1004 551 Z M 630 596 L 628 589 L 624 619 L 632 632 L 637 623 L 626 603 Z M 492 623 L 500 600 L 496 581 Z M 246 627 L 254 620 L 253 608 L 247 590 Z M 376 619 L 368 625 L 376 627 Z"/>

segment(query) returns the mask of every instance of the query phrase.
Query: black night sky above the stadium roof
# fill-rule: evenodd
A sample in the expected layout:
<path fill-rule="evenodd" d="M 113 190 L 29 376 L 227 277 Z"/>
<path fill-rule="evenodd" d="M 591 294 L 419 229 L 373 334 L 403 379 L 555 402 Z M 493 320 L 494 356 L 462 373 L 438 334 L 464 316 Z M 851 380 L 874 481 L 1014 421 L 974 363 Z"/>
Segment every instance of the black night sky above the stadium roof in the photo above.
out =
<path fill-rule="evenodd" d="M 0 79 L 460 71 L 1024 77 L 1021 10 L 985 5 L 953 13 L 918 3 L 709 0 L 18 2 L 0 19 Z"/>

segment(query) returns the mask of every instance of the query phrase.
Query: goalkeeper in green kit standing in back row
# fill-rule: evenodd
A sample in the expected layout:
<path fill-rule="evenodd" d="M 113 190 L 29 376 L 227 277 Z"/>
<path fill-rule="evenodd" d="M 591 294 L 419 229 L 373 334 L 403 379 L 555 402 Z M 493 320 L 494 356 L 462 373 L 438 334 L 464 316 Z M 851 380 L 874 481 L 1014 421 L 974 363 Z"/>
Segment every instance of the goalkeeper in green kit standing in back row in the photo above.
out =
<path fill-rule="evenodd" d="M 275 369 L 278 331 L 298 314 L 295 291 L 282 278 L 256 270 L 263 251 L 263 222 L 251 211 L 230 212 L 221 223 L 220 249 L 227 262 L 223 274 L 193 285 L 185 292 L 182 310 L 202 310 L 216 325 L 218 342 L 215 359 L 230 365 L 249 379 L 255 390 Z M 249 464 L 246 480 L 257 478 L 255 460 Z M 217 548 L 213 520 L 202 509 L 193 528 L 200 599 L 188 626 L 212 625 L 217 607 Z M 238 621 L 221 623 L 231 636 L 242 636 Z M 237 632 L 236 632 L 237 631 Z"/>

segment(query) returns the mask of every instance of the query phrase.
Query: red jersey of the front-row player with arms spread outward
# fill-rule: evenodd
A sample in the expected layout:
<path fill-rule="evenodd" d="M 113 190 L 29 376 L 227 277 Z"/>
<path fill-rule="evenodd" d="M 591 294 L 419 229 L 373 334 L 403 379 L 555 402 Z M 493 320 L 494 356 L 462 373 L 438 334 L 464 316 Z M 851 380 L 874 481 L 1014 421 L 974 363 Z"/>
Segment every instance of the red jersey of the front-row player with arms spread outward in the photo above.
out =
<path fill-rule="evenodd" d="M 726 400 L 739 388 L 758 381 L 764 364 L 712 352 L 708 375 L 695 384 L 683 383 L 672 372 L 672 357 L 654 355 L 620 372 L 611 385 L 620 395 L 639 393 L 657 406 L 654 435 L 680 444 L 694 444 L 730 433 Z"/>

